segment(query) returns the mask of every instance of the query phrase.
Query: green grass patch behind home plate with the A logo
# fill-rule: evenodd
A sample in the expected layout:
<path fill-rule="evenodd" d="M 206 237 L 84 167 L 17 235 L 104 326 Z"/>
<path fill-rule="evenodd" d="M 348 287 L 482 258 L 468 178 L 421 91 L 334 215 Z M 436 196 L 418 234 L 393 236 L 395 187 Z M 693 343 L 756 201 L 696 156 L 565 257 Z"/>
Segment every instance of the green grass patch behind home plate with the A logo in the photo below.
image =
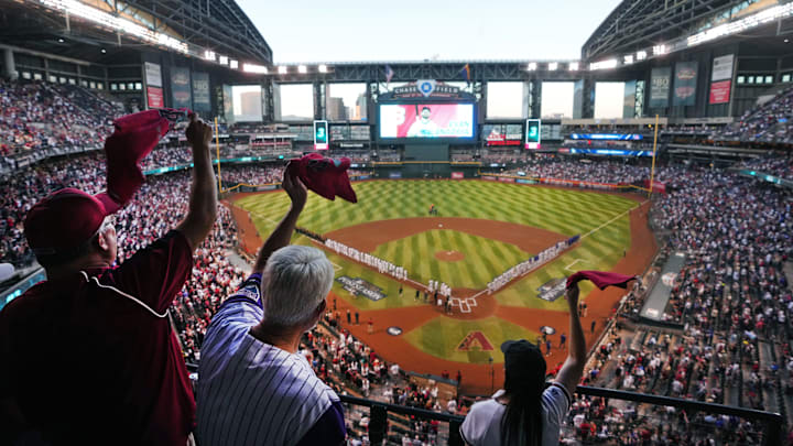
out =
<path fill-rule="evenodd" d="M 482 351 L 478 348 L 468 351 L 459 350 L 458 347 L 463 339 L 474 331 L 481 331 L 493 349 L 490 351 Z M 503 341 L 528 339 L 534 342 L 537 336 L 536 331 L 495 316 L 479 320 L 437 317 L 405 334 L 405 339 L 417 349 L 438 358 L 458 362 L 488 363 L 492 357 L 496 363 L 503 362 L 503 355 L 499 349 Z"/>

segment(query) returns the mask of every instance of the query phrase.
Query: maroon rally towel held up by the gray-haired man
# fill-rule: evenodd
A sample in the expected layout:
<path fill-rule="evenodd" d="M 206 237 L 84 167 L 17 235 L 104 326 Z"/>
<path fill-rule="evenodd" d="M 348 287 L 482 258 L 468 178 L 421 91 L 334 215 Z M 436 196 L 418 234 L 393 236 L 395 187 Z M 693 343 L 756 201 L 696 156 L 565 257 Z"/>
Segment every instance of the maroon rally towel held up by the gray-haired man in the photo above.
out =
<path fill-rule="evenodd" d="M 290 171 L 293 175 L 297 175 L 306 187 L 322 197 L 334 200 L 339 196 L 347 202 L 358 203 L 347 176 L 349 166 L 348 157 L 334 160 L 318 153 L 309 153 L 300 160 L 292 160 Z"/>

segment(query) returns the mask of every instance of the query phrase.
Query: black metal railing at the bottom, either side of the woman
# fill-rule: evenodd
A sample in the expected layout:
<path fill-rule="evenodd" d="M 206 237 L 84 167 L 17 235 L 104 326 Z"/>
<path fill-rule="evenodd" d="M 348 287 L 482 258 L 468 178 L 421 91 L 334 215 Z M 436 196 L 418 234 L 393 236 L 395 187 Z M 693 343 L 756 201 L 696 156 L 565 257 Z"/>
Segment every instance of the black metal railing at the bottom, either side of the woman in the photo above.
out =
<path fill-rule="evenodd" d="M 651 404 L 663 407 L 675 407 L 691 412 L 706 414 L 728 415 L 752 422 L 764 424 L 762 428 L 762 445 L 781 445 L 783 440 L 784 418 L 779 413 L 763 412 L 752 409 L 728 406 L 723 404 L 704 403 L 699 401 L 683 400 L 671 396 L 660 396 L 637 392 L 627 392 L 613 389 L 591 388 L 579 385 L 576 390 L 578 395 L 599 396 L 608 400 L 621 400 L 634 403 Z M 343 403 L 351 406 L 369 409 L 368 436 L 372 445 L 381 445 L 388 438 L 389 413 L 408 415 L 416 420 L 437 421 L 448 424 L 448 445 L 464 446 L 459 434 L 459 427 L 465 421 L 464 416 L 448 413 L 432 412 L 423 409 L 409 407 L 398 404 L 389 404 L 362 398 L 339 395 Z"/>

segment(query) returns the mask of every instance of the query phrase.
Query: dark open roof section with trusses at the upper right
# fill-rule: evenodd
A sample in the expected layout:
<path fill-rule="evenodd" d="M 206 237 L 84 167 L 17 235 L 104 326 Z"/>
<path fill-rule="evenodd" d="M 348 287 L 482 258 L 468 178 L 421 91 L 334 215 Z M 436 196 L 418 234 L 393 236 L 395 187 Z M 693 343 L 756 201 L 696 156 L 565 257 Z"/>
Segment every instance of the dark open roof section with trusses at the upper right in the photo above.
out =
<path fill-rule="evenodd" d="M 582 58 L 593 61 L 653 47 L 779 3 L 776 0 L 624 0 L 586 41 Z"/>

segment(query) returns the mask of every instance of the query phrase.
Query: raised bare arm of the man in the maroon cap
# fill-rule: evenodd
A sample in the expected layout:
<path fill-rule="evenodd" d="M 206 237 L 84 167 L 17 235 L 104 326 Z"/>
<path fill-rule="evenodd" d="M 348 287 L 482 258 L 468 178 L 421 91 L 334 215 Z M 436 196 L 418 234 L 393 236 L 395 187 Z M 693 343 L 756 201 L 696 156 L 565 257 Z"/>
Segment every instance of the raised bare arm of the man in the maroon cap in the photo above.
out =
<path fill-rule="evenodd" d="M 186 134 L 193 148 L 193 187 L 187 216 L 176 226 L 176 230 L 187 238 L 191 248 L 195 250 L 209 233 L 217 217 L 215 172 L 209 159 L 213 132 L 209 124 L 191 115 Z"/>

